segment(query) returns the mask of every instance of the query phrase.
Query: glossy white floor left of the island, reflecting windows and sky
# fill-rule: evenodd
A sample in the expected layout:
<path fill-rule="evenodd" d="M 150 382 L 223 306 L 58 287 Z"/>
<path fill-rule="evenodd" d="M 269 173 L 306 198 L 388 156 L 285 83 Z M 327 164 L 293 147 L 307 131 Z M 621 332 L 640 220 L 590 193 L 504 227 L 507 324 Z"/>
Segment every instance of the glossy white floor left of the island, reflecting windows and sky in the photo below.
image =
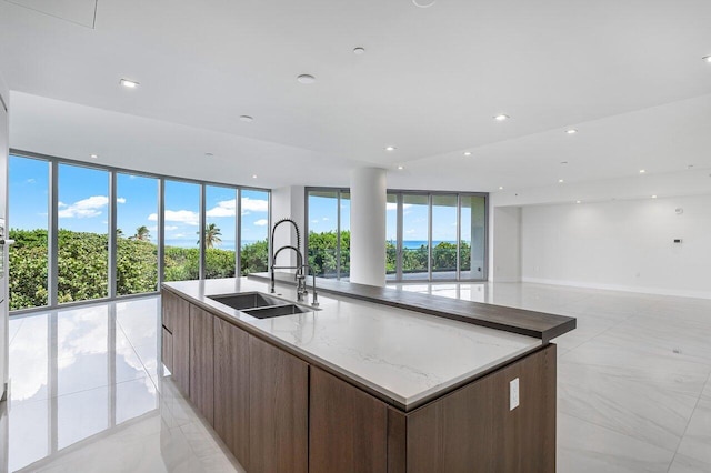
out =
<path fill-rule="evenodd" d="M 242 471 L 160 375 L 159 310 L 151 296 L 11 318 L 8 471 Z"/>

